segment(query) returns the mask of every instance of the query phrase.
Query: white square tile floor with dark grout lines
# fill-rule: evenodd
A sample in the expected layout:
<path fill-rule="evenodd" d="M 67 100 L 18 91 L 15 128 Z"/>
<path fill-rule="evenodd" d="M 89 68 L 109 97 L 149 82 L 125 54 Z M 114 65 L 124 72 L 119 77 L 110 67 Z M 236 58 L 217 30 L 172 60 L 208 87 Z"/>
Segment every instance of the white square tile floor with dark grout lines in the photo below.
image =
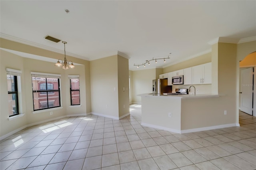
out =
<path fill-rule="evenodd" d="M 144 127 L 140 105 L 121 120 L 68 117 L 0 141 L 1 170 L 255 170 L 256 117 L 241 127 L 175 134 Z"/>

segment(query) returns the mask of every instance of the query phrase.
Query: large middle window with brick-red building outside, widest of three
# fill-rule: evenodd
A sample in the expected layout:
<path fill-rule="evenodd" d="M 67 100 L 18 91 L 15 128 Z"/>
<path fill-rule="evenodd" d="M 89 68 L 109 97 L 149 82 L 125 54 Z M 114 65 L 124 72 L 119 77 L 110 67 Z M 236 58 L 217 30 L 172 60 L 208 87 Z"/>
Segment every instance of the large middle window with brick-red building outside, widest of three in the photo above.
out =
<path fill-rule="evenodd" d="M 60 107 L 60 75 L 31 72 L 34 111 Z"/>

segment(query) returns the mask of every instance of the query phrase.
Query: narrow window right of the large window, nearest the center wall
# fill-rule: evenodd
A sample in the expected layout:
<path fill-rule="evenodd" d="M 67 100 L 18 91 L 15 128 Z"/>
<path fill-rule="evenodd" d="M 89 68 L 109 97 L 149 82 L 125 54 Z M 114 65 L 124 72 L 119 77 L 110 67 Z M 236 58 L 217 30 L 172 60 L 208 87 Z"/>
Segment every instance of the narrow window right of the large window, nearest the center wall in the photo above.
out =
<path fill-rule="evenodd" d="M 79 75 L 68 75 L 71 105 L 80 105 Z"/>

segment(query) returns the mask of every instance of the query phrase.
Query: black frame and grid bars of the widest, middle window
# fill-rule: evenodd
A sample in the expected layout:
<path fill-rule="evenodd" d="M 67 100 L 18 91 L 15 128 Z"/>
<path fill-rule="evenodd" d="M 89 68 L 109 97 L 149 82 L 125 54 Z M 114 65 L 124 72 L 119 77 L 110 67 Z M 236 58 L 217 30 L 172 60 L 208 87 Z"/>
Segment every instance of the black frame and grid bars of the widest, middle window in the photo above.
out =
<path fill-rule="evenodd" d="M 51 90 L 48 90 L 48 87 L 47 87 L 47 78 L 49 77 L 45 77 L 45 76 L 40 76 L 42 78 L 45 78 L 45 83 L 46 83 L 46 90 L 33 90 L 33 76 L 31 77 L 32 79 L 32 96 L 33 96 L 33 103 L 34 103 L 34 93 L 38 93 L 38 92 L 45 92 L 46 93 L 46 99 L 47 99 L 47 107 L 46 108 L 41 108 L 41 109 L 36 109 L 34 108 L 34 105 L 33 105 L 33 110 L 34 111 L 41 111 L 41 110 L 45 110 L 45 109 L 52 109 L 52 108 L 56 108 L 56 107 L 61 107 L 61 104 L 60 104 L 60 79 L 59 78 L 56 78 L 58 79 L 58 89 L 51 89 Z M 48 93 L 54 93 L 54 92 L 58 92 L 59 94 L 59 106 L 55 106 L 55 107 L 49 107 L 49 99 L 48 99 Z"/>

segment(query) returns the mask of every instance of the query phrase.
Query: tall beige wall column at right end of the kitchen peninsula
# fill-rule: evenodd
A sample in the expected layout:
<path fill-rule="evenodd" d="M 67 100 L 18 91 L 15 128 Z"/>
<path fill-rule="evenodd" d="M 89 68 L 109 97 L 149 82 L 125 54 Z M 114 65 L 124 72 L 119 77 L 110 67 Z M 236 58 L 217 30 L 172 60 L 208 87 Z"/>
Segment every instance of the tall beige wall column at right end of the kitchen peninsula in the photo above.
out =
<path fill-rule="evenodd" d="M 239 123 L 237 72 L 239 73 L 236 63 L 236 44 L 218 43 L 218 94 L 224 95 L 221 97 L 224 104 L 222 114 L 226 110 L 229 120 Z"/>

